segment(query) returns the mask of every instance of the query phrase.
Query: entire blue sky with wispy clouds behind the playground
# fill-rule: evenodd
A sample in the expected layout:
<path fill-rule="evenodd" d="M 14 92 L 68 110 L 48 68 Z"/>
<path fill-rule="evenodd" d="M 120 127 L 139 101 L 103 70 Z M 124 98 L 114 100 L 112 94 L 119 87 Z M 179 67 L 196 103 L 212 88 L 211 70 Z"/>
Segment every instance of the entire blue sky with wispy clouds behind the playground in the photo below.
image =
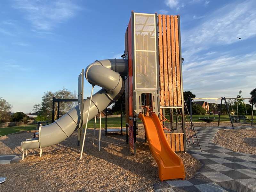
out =
<path fill-rule="evenodd" d="M 256 88 L 255 9 L 254 0 L 1 0 L 0 97 L 12 112 L 28 113 L 44 92 L 74 92 L 82 68 L 123 54 L 132 10 L 180 15 L 184 91 L 236 97 L 242 90 L 250 97 Z M 90 90 L 85 79 L 85 98 Z"/>

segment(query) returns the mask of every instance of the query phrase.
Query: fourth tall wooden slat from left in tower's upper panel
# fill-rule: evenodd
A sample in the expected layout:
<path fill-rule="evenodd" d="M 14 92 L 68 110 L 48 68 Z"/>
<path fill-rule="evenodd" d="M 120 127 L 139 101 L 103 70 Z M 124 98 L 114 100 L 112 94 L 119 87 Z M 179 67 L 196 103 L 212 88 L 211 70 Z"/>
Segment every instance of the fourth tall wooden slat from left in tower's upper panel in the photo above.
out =
<path fill-rule="evenodd" d="M 173 91 L 173 106 L 177 106 L 177 88 L 176 88 L 176 62 L 175 62 L 175 41 L 174 41 L 174 17 L 171 15 L 171 48 L 172 48 L 172 91 Z"/>

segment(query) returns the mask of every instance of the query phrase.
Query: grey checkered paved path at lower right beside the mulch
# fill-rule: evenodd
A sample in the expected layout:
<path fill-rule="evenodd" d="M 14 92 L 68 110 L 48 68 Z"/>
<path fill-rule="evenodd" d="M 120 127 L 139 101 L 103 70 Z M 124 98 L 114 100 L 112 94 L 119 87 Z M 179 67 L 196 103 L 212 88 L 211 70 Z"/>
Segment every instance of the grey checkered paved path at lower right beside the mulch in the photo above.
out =
<path fill-rule="evenodd" d="M 216 145 L 213 139 L 225 127 L 200 127 L 197 136 L 199 146 L 190 145 L 187 152 L 198 159 L 202 166 L 190 180 L 164 181 L 154 189 L 170 192 L 252 192 L 256 191 L 256 155 L 234 152 Z M 236 129 L 252 129 L 236 127 Z M 239 144 L 238 144 L 239 145 Z"/>

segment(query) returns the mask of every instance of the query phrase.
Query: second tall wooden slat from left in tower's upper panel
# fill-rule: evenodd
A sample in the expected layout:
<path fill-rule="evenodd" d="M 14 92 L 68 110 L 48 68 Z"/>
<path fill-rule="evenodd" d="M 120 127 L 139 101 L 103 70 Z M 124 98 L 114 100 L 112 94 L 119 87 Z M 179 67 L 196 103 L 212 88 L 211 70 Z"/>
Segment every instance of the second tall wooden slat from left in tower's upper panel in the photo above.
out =
<path fill-rule="evenodd" d="M 166 17 L 163 15 L 163 56 L 164 56 L 164 92 L 165 92 L 165 105 L 169 106 L 168 94 L 168 63 L 167 63 L 167 41 L 166 41 Z"/>

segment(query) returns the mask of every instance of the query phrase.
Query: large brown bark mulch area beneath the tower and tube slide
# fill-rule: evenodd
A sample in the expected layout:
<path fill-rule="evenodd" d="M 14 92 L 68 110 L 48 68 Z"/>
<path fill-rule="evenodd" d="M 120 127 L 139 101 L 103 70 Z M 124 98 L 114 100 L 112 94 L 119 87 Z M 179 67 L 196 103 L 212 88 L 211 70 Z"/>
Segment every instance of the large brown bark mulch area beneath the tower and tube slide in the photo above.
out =
<path fill-rule="evenodd" d="M 82 160 L 79 160 L 77 133 L 51 147 L 29 150 L 28 156 L 17 164 L 0 164 L 0 176 L 7 178 L 0 191 L 153 191 L 160 182 L 158 167 L 148 144 L 144 143 L 144 128 L 139 128 L 137 155 L 126 144 L 125 135 L 101 132 L 92 145 L 93 129 L 88 129 Z M 21 154 L 21 141 L 31 133 L 0 137 L 0 155 Z M 96 138 L 99 131 L 96 132 Z M 183 159 L 186 179 L 194 176 L 200 162 L 187 153 Z"/>

